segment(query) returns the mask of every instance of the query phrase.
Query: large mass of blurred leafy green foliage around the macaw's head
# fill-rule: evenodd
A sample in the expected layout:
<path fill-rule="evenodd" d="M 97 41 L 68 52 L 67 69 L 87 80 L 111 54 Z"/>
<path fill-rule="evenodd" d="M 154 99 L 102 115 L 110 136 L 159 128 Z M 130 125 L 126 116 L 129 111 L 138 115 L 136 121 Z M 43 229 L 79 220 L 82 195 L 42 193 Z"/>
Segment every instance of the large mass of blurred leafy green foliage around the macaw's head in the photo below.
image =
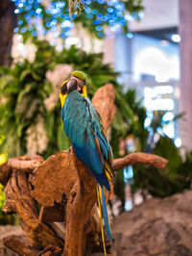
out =
<path fill-rule="evenodd" d="M 55 93 L 55 86 L 58 86 L 54 85 L 55 81 L 46 78 L 47 72 L 53 71 L 58 64 L 84 70 L 90 98 L 98 88 L 112 83 L 116 94 L 115 104 L 120 108 L 112 129 L 122 136 L 125 134 L 122 127 L 128 119 L 136 127 L 138 120 L 134 118 L 121 86 L 116 83 L 118 74 L 108 64 L 103 64 L 102 54 L 85 53 L 75 46 L 57 52 L 48 42 L 36 41 L 33 63 L 24 60 L 0 69 L 0 135 L 6 136 L 0 150 L 9 157 L 28 152 L 39 153 L 46 158 L 69 147 L 70 141 L 62 128 L 58 95 L 51 109 L 51 103 L 46 103 Z M 117 149 L 114 148 L 114 152 Z"/>

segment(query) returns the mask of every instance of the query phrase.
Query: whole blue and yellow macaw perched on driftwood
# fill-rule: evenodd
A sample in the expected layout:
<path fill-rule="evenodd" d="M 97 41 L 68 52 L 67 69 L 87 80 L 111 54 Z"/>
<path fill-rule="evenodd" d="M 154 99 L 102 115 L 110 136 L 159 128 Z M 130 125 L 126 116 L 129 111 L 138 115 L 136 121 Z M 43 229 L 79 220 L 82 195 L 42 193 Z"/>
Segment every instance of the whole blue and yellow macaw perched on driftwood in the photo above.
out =
<path fill-rule="evenodd" d="M 61 85 L 60 103 L 64 131 L 71 139 L 77 157 L 84 162 L 96 179 L 101 224 L 103 217 L 111 242 L 104 188 L 110 191 L 108 180 L 113 177 L 112 152 L 102 118 L 87 97 L 84 72 L 73 71 L 70 78 Z M 106 253 L 103 224 L 102 238 Z"/>

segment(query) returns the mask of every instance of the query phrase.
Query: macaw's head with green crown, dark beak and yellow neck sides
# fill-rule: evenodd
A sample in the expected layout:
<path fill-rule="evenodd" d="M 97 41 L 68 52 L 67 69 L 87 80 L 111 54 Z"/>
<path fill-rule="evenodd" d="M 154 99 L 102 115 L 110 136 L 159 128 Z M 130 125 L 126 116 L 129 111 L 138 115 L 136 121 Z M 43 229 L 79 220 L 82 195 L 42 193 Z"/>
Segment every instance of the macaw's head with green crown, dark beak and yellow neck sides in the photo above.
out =
<path fill-rule="evenodd" d="M 60 87 L 60 103 L 63 107 L 65 98 L 72 90 L 78 90 L 82 96 L 86 97 L 86 75 L 82 71 L 75 70 L 70 74 L 70 78 L 66 80 Z"/>

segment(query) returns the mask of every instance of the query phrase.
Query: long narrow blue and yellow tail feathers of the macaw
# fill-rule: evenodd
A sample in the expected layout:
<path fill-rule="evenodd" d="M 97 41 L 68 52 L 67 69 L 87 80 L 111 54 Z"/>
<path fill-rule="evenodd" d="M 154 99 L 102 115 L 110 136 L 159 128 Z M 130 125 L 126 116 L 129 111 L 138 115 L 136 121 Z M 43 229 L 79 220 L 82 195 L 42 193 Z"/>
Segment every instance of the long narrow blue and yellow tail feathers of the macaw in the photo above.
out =
<path fill-rule="evenodd" d="M 98 195 L 98 205 L 99 205 L 99 210 L 100 210 L 100 218 L 101 218 L 101 225 L 102 225 L 102 239 L 104 243 L 104 251 L 106 254 L 106 246 L 105 246 L 105 240 L 104 240 L 104 231 L 103 231 L 103 223 L 102 223 L 102 218 L 104 218 L 105 224 L 106 224 L 106 229 L 108 232 L 108 239 L 110 243 L 112 243 L 111 239 L 111 231 L 110 231 L 110 225 L 108 221 L 108 212 L 107 212 L 107 207 L 106 207 L 106 199 L 104 195 L 104 189 L 103 186 L 100 186 L 99 183 L 97 183 L 97 195 Z"/>

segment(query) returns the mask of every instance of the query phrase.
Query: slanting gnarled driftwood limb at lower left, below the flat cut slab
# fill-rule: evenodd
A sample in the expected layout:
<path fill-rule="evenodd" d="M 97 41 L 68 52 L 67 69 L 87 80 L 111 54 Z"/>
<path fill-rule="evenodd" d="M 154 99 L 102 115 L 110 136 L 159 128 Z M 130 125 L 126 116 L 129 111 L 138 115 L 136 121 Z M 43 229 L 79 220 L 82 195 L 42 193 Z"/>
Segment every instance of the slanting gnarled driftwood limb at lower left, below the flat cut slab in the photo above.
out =
<path fill-rule="evenodd" d="M 36 202 L 31 196 L 31 188 L 26 173 L 14 170 L 12 178 L 6 186 L 6 214 L 16 213 L 22 219 L 21 227 L 30 243 L 36 247 L 48 245 L 62 246 L 63 242 L 58 238 L 48 225 L 38 219 Z"/>

